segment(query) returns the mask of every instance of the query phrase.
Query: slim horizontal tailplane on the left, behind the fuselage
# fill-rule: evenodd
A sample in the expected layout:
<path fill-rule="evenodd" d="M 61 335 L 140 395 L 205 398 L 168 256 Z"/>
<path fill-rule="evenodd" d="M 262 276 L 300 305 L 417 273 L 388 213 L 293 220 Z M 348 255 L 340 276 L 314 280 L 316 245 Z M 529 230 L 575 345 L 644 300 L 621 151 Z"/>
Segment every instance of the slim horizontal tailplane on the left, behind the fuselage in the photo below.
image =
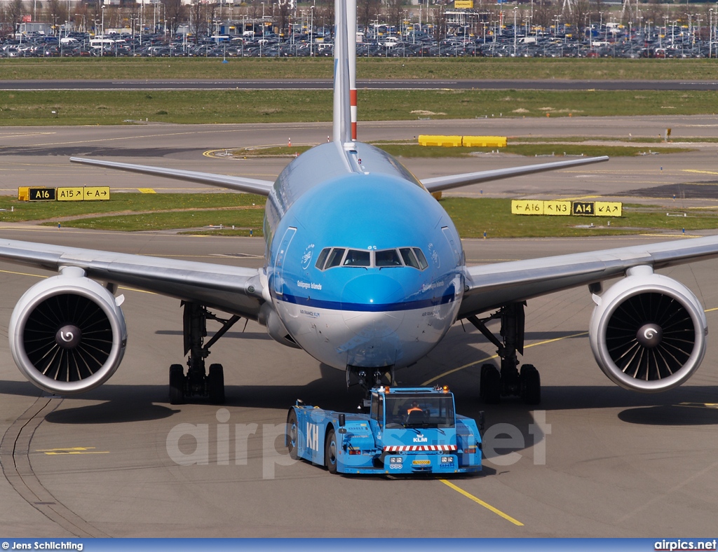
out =
<path fill-rule="evenodd" d="M 272 186 L 274 186 L 274 182 L 269 180 L 246 179 L 242 176 L 200 173 L 197 171 L 181 171 L 177 168 L 134 165 L 132 163 L 117 163 L 116 161 L 100 161 L 99 159 L 90 159 L 85 157 L 70 157 L 70 161 L 73 163 L 83 163 L 83 165 L 113 168 L 118 171 L 127 171 L 130 173 L 165 176 L 174 180 L 197 182 L 197 184 L 209 184 L 210 186 L 218 186 L 220 188 L 228 188 L 236 191 L 245 191 L 249 194 L 259 194 L 261 196 L 269 196 L 269 192 L 271 191 Z"/>

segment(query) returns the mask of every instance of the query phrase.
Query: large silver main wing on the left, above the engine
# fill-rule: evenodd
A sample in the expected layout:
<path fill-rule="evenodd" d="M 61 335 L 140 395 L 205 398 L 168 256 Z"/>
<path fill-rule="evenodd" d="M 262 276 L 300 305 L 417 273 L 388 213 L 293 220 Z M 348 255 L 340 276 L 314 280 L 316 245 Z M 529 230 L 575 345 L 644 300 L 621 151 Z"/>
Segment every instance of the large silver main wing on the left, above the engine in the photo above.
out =
<path fill-rule="evenodd" d="M 0 239 L 0 260 L 59 271 L 79 267 L 93 280 L 161 295 L 256 319 L 263 285 L 256 268 L 215 265 L 77 247 Z"/>

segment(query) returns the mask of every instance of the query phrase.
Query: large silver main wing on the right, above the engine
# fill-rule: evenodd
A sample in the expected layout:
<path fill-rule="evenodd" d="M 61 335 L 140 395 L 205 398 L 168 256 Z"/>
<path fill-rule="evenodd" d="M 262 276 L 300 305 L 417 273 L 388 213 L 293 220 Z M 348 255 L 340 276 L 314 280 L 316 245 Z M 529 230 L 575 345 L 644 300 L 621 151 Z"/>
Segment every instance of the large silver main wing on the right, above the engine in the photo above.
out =
<path fill-rule="evenodd" d="M 631 267 L 654 270 L 718 257 L 718 236 L 467 267 L 459 318 L 538 295 L 623 276 Z"/>

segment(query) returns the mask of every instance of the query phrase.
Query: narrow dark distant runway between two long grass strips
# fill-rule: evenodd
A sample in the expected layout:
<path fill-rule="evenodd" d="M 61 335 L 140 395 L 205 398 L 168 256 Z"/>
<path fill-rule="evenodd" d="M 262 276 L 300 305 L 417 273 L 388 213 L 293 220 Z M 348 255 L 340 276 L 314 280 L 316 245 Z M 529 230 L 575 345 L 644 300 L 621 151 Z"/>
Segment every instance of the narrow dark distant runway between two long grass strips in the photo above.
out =
<path fill-rule="evenodd" d="M 715 80 L 376 80 L 360 90 L 718 90 Z M 0 80 L 0 90 L 331 90 L 330 79 Z"/>

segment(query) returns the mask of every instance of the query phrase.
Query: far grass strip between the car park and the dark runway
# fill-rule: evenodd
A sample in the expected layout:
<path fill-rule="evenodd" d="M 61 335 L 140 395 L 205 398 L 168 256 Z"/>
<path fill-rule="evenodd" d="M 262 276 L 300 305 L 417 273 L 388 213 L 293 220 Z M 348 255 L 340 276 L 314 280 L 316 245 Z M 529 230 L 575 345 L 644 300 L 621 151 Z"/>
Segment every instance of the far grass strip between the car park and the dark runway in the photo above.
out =
<path fill-rule="evenodd" d="M 0 60 L 0 80 L 331 79 L 331 58 Z M 714 60 L 359 58 L 359 79 L 713 80 Z"/>

